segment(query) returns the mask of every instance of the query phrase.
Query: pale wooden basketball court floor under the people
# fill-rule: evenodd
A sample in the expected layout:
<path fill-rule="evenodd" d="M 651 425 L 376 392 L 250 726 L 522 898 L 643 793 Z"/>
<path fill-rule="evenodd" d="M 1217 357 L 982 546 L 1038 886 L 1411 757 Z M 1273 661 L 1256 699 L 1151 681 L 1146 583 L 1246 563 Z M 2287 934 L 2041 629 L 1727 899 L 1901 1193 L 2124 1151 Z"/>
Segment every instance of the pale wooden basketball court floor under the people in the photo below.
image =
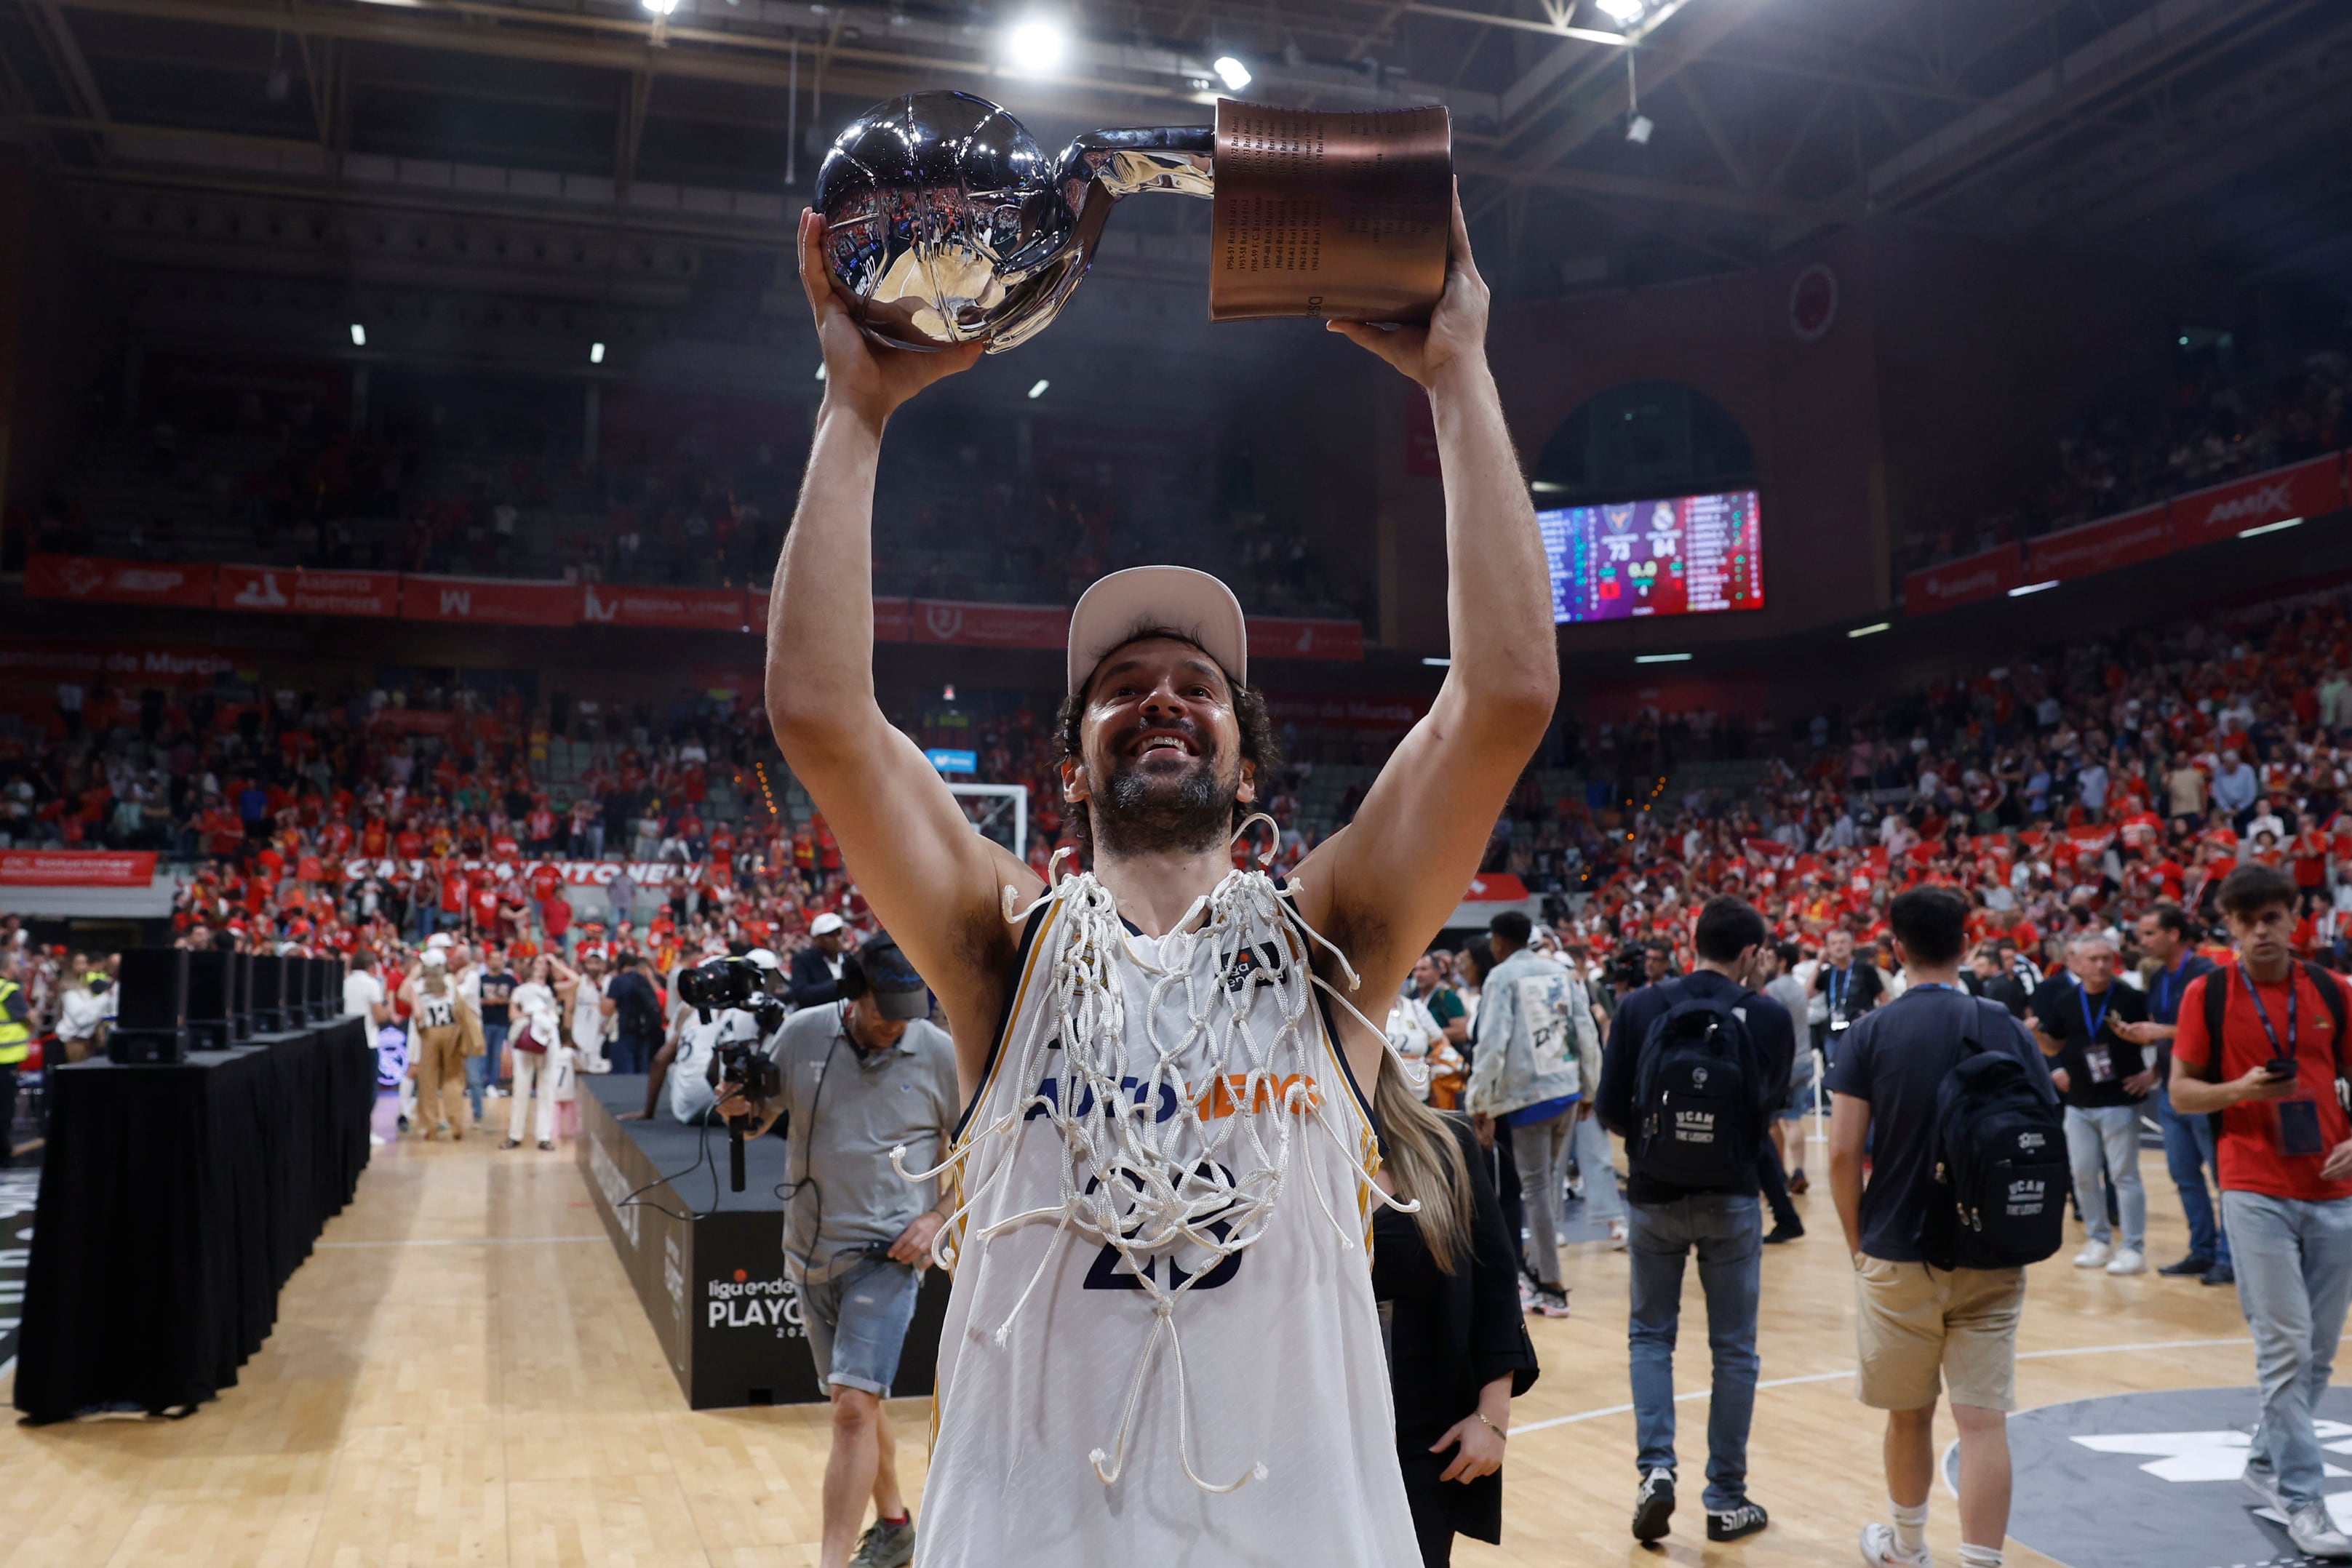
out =
<path fill-rule="evenodd" d="M 2159 1154 L 2143 1154 L 2143 1175 L 2150 1262 L 2164 1262 L 2183 1251 L 2178 1199 Z M 1773 1526 L 1705 1542 L 1693 1272 L 1677 1361 L 1696 1394 L 1682 1406 L 1684 1507 L 1663 1552 L 1632 1542 L 1625 1258 L 1576 1248 L 1576 1316 L 1534 1324 L 1543 1380 L 1512 1413 L 1505 1542 L 1463 1542 L 1456 1563 L 1853 1561 L 1858 1528 L 1884 1512 L 1879 1420 L 1853 1401 L 1851 1274 L 1825 1182 L 1797 1201 L 1811 1234 L 1764 1258 L 1750 1448 Z M 2020 1349 L 2027 1408 L 2253 1378 L 2232 1291 L 2065 1258 L 2034 1269 Z M 898 1415 L 920 1439 L 924 1408 Z M 287 1286 L 278 1331 L 216 1403 L 181 1422 L 0 1432 L 0 1561 L 797 1566 L 816 1561 L 823 1462 L 818 1408 L 684 1408 L 569 1147 L 397 1143 L 376 1150 Z M 920 1441 L 901 1469 L 920 1488 Z M 1929 1540 L 1957 1561 L 1943 1488 Z M 2051 1559 L 2013 1542 L 2009 1561 Z"/>

